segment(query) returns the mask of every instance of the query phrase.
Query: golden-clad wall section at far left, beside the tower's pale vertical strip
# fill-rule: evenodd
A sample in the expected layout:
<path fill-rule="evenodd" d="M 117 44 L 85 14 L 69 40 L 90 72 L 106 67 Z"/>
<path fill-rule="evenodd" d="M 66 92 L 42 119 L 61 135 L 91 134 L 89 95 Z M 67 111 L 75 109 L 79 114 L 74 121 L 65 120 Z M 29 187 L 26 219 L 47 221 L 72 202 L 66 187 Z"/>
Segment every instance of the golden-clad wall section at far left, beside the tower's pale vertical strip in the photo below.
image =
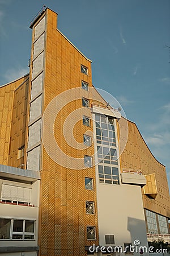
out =
<path fill-rule="evenodd" d="M 17 155 L 17 150 L 14 149 L 14 143 L 17 146 L 20 146 L 20 140 L 22 140 L 22 128 L 23 128 L 23 114 L 24 108 L 26 107 L 26 102 L 23 101 L 25 97 L 25 86 L 23 85 L 21 88 L 14 90 L 19 87 L 28 76 L 24 76 L 14 82 L 10 82 L 7 85 L 0 87 L 0 164 L 12 164 L 10 162 L 10 158 Z M 14 101 L 14 103 L 13 103 Z M 26 104 L 26 105 L 25 105 Z M 15 116 L 15 117 L 14 117 Z M 15 121 L 14 121 L 15 119 Z M 11 125 L 12 122 L 18 123 L 18 125 L 14 125 L 13 134 L 11 133 Z M 11 137 L 11 139 L 10 139 Z M 15 137 L 15 138 L 14 138 Z M 14 142 L 15 140 L 15 142 Z M 22 143 L 21 143 L 22 144 Z M 13 146 L 12 146 L 13 145 Z M 22 146 L 22 145 L 21 145 Z M 9 148 L 10 147 L 10 148 Z M 16 145 L 15 145 L 16 148 Z M 8 162 L 8 151 L 10 150 L 9 162 Z M 15 151 L 15 152 L 14 152 Z M 14 160 L 14 165 L 17 166 L 16 158 Z M 19 164 L 18 164 L 19 165 Z"/>

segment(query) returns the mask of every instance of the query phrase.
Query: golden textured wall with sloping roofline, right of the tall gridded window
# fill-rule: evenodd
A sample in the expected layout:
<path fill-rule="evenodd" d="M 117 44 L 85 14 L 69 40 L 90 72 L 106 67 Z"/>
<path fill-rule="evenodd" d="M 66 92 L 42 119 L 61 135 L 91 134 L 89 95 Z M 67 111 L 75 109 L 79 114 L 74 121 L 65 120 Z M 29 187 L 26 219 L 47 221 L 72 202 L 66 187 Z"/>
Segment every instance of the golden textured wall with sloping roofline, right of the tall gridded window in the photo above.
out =
<path fill-rule="evenodd" d="M 144 195 L 143 206 L 148 210 L 170 217 L 170 198 L 167 174 L 163 164 L 154 158 L 148 149 L 135 123 L 128 121 L 129 137 L 121 155 L 122 169 L 141 170 L 143 175 L 155 173 L 158 195 L 150 199 Z"/>

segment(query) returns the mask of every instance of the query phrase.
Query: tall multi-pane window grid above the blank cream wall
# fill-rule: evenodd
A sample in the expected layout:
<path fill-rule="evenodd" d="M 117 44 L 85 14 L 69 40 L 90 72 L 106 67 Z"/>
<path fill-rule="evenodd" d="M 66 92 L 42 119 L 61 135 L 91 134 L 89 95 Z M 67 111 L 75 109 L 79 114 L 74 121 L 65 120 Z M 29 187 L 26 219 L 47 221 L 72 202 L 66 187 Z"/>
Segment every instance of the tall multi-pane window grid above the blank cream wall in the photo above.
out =
<path fill-rule="evenodd" d="M 114 119 L 100 114 L 95 119 L 99 182 L 120 184 Z"/>

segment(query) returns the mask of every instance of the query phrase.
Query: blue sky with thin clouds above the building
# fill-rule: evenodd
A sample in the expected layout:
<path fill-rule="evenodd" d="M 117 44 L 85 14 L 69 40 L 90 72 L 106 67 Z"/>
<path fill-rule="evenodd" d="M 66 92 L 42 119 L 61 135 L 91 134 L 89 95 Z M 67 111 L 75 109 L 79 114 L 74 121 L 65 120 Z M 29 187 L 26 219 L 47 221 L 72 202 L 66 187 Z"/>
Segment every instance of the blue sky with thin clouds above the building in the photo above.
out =
<path fill-rule="evenodd" d="M 27 73 L 31 19 L 45 4 L 92 60 L 92 79 L 137 123 L 170 187 L 170 1 L 0 0 L 0 84 Z"/>

